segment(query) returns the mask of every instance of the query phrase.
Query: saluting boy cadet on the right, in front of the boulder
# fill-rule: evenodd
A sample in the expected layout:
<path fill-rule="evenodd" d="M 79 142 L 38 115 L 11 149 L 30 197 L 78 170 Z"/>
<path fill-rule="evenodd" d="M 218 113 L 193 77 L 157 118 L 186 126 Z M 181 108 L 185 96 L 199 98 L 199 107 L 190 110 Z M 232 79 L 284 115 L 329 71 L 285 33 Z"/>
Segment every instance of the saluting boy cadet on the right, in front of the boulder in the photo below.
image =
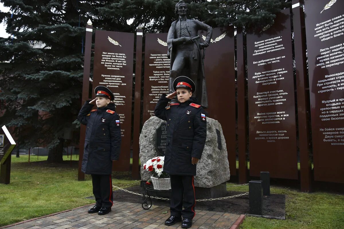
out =
<path fill-rule="evenodd" d="M 155 107 L 155 116 L 167 121 L 164 171 L 171 176 L 171 216 L 165 225 L 181 221 L 182 228 L 192 226 L 195 216 L 194 175 L 201 159 L 207 135 L 207 122 L 203 108 L 191 97 L 194 82 L 185 76 L 173 82 L 175 92 L 163 94 Z M 177 95 L 178 103 L 168 102 Z M 184 210 L 182 210 L 184 206 Z"/>

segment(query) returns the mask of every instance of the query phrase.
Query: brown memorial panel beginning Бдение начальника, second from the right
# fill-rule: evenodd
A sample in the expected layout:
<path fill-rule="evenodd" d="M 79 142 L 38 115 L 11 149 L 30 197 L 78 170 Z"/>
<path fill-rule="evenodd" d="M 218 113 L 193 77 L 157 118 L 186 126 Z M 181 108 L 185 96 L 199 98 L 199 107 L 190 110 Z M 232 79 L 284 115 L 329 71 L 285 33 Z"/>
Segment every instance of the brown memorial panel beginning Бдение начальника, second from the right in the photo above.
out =
<path fill-rule="evenodd" d="M 290 9 L 247 34 L 250 175 L 298 179 Z"/>

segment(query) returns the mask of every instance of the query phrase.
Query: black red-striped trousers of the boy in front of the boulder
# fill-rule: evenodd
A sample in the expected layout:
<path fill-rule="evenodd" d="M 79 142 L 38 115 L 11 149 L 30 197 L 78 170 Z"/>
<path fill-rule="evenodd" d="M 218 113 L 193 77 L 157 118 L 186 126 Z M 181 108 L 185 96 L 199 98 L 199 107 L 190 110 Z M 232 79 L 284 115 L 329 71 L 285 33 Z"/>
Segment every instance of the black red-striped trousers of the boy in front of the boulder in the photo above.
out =
<path fill-rule="evenodd" d="M 171 216 L 192 219 L 195 216 L 194 176 L 171 176 Z M 182 206 L 184 209 L 182 210 Z"/>

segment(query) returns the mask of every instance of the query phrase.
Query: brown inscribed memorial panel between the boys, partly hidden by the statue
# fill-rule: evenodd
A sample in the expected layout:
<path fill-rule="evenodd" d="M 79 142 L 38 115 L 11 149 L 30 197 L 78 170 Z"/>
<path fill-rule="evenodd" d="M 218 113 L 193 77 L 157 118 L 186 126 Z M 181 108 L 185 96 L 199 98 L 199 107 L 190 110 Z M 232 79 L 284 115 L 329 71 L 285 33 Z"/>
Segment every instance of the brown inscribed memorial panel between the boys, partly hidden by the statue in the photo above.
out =
<path fill-rule="evenodd" d="M 148 33 L 144 51 L 143 123 L 154 116 L 161 94 L 168 94 L 170 59 L 167 57 L 167 33 Z"/>

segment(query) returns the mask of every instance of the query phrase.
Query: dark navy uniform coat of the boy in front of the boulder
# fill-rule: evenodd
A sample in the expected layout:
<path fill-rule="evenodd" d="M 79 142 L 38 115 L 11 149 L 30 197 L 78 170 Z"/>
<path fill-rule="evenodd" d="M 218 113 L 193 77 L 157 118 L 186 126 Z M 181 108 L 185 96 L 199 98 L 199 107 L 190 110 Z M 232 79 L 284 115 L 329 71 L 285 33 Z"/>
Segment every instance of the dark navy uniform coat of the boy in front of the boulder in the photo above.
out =
<path fill-rule="evenodd" d="M 196 164 L 191 157 L 201 159 L 207 137 L 207 122 L 204 110 L 191 97 L 184 103 L 174 103 L 167 107 L 170 99 L 163 94 L 157 106 L 155 116 L 167 121 L 167 139 L 164 160 L 164 172 L 171 175 L 196 175 Z M 191 105 L 198 106 L 191 106 Z"/>

